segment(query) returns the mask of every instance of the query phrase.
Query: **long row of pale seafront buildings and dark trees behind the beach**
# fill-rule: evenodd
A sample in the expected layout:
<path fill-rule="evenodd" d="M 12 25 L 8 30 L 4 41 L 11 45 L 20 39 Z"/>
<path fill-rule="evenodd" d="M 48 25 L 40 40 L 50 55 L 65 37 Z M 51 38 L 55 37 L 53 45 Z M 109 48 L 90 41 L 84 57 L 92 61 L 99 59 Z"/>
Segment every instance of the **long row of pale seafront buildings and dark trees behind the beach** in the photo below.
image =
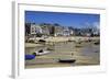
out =
<path fill-rule="evenodd" d="M 100 32 L 96 27 L 76 28 L 54 24 L 25 24 L 25 37 L 42 37 L 42 36 L 99 36 Z"/>

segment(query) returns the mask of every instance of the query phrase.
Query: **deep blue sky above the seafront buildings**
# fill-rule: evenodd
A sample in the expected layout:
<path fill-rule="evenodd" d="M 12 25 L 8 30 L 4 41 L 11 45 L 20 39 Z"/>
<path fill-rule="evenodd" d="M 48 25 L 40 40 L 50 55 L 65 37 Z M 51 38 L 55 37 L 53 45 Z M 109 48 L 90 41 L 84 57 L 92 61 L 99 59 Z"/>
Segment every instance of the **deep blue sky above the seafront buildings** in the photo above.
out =
<path fill-rule="evenodd" d="M 62 26 L 74 27 L 99 27 L 100 14 L 25 11 L 25 22 L 36 24 L 58 23 Z"/>

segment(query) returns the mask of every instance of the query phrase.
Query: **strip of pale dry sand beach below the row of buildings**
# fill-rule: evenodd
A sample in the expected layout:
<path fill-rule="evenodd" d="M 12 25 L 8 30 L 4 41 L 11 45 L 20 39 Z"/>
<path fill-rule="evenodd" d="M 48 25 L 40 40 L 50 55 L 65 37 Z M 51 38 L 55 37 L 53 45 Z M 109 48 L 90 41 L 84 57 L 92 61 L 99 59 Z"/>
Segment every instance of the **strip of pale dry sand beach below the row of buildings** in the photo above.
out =
<path fill-rule="evenodd" d="M 25 47 L 35 47 L 35 46 L 41 46 L 38 44 L 40 39 L 46 41 L 46 43 L 59 43 L 59 42 L 87 42 L 87 41 L 99 41 L 100 37 L 82 37 L 82 36 L 57 36 L 53 37 L 50 36 L 47 38 L 43 37 L 36 37 L 36 38 L 30 38 L 31 41 L 35 41 L 35 43 L 25 43 Z"/>

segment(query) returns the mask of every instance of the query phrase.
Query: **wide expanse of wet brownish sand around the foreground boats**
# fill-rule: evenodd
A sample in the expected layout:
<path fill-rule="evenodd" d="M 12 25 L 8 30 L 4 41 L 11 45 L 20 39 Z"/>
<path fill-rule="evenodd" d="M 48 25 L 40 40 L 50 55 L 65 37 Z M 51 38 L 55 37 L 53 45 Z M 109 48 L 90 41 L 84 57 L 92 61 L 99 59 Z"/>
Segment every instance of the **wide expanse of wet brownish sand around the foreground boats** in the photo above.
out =
<path fill-rule="evenodd" d="M 94 66 L 100 65 L 100 45 L 95 45 L 94 42 L 67 42 L 55 43 L 53 45 L 42 44 L 41 46 L 26 47 L 26 54 L 38 50 L 41 48 L 46 49 L 50 47 L 51 54 L 36 56 L 33 60 L 25 60 L 25 68 L 50 68 L 50 67 L 73 67 L 73 66 Z M 72 55 L 73 53 L 73 55 Z M 59 58 L 74 58 L 74 64 L 61 64 Z"/>

